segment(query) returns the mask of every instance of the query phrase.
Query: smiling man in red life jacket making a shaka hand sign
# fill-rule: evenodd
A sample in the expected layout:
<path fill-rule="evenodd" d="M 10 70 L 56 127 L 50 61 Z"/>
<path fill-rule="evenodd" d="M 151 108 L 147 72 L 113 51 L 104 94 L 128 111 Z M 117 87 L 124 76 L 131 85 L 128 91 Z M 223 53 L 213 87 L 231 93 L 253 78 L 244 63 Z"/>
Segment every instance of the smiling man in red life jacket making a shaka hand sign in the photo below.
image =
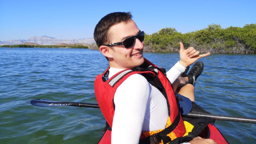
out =
<path fill-rule="evenodd" d="M 101 142 L 167 143 L 183 137 L 186 129 L 172 86 L 161 69 L 143 58 L 144 32 L 139 30 L 132 15 L 125 12 L 106 15 L 96 25 L 94 38 L 110 65 L 95 80 L 96 99 L 109 125 Z M 199 55 L 194 48 L 184 50 L 180 44 L 181 59 L 177 65 L 183 66 L 183 70 L 179 74 L 209 55 Z M 182 87 L 180 93 L 186 95 L 185 90 Z M 177 126 L 168 135 L 159 136 L 158 133 L 165 132 L 173 123 Z M 160 140 L 154 135 L 161 137 Z M 194 138 L 191 144 L 200 141 L 214 143 Z"/>

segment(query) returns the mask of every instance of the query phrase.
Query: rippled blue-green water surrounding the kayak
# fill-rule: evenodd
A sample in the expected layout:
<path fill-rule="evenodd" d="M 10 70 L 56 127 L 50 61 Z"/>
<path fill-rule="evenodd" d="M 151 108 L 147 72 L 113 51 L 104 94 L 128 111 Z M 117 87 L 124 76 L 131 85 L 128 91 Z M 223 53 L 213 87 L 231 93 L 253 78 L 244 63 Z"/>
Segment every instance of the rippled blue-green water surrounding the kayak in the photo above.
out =
<path fill-rule="evenodd" d="M 170 69 L 178 54 L 145 53 Z M 213 114 L 256 117 L 256 55 L 211 54 L 196 83 L 196 102 Z M 36 107 L 32 99 L 96 103 L 94 79 L 107 68 L 97 50 L 0 48 L 0 143 L 97 143 L 100 110 Z M 216 121 L 231 144 L 256 141 L 256 124 Z"/>

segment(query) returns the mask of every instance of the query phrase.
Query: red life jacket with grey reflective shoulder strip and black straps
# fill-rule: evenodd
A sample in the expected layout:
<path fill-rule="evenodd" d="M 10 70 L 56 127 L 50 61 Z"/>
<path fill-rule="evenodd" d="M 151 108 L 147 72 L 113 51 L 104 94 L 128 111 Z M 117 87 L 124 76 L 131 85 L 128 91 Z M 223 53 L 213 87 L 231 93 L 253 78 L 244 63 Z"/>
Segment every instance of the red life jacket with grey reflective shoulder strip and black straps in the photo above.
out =
<path fill-rule="evenodd" d="M 137 68 L 133 70 L 122 70 L 119 73 L 113 75 L 110 79 L 106 79 L 108 70 L 110 68 L 108 67 L 104 73 L 96 76 L 94 87 L 95 96 L 107 124 L 110 126 L 110 128 L 112 128 L 114 117 L 113 99 L 118 86 L 121 85 L 122 82 L 126 80 L 130 75 L 142 74 L 145 76 L 145 78 L 151 77 L 154 79 L 153 81 L 159 83 L 158 85 L 160 85 L 160 88 L 158 86 L 156 86 L 156 88 L 158 88 L 166 98 L 171 126 L 164 129 L 162 132 L 159 132 L 158 134 L 152 135 L 148 138 L 145 138 L 145 136 L 142 134 L 140 137 L 140 143 L 160 143 L 161 140 L 164 143 L 170 142 L 174 138 L 167 137 L 166 135 L 170 134 L 171 132 L 174 133 L 172 135 L 175 135 L 175 137 L 183 137 L 183 135 L 186 133 L 186 129 L 181 118 L 181 114 L 178 110 L 176 97 L 170 81 L 166 78 L 165 72 L 162 72 L 162 70 L 153 63 L 150 63 L 145 59 L 144 65 L 151 66 L 146 69 Z M 155 86 L 155 84 L 152 85 Z M 110 130 L 106 130 L 106 133 L 103 135 L 99 143 L 111 143 Z"/>

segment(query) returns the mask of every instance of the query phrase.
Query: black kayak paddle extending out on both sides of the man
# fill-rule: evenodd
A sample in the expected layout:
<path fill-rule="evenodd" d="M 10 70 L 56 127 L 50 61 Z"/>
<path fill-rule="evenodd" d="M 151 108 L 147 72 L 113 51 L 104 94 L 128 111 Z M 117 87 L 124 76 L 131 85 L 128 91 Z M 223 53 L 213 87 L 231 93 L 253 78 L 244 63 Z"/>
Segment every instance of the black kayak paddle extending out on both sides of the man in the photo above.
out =
<path fill-rule="evenodd" d="M 100 108 L 98 106 L 98 104 L 93 104 L 93 103 L 60 102 L 60 101 L 49 101 L 49 100 L 43 100 L 43 99 L 34 99 L 30 103 L 34 106 L 41 106 L 41 107 L 75 106 L 75 107 Z M 191 117 L 191 118 L 210 117 L 212 119 L 220 120 L 220 121 L 231 121 L 231 122 L 242 122 L 242 123 L 256 124 L 256 118 L 223 116 L 223 115 L 208 114 L 208 113 L 201 113 L 201 112 L 190 112 L 187 115 L 185 115 L 184 117 Z"/>

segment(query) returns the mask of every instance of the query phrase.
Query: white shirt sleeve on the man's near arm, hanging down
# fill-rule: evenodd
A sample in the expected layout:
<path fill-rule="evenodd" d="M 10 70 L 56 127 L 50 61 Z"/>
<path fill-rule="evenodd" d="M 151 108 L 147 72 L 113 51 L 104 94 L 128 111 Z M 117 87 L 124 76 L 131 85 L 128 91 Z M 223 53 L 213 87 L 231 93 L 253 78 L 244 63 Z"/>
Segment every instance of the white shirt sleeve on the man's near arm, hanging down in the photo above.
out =
<path fill-rule="evenodd" d="M 150 91 L 148 81 L 140 74 L 129 76 L 117 88 L 114 95 L 112 144 L 139 143 Z"/>

